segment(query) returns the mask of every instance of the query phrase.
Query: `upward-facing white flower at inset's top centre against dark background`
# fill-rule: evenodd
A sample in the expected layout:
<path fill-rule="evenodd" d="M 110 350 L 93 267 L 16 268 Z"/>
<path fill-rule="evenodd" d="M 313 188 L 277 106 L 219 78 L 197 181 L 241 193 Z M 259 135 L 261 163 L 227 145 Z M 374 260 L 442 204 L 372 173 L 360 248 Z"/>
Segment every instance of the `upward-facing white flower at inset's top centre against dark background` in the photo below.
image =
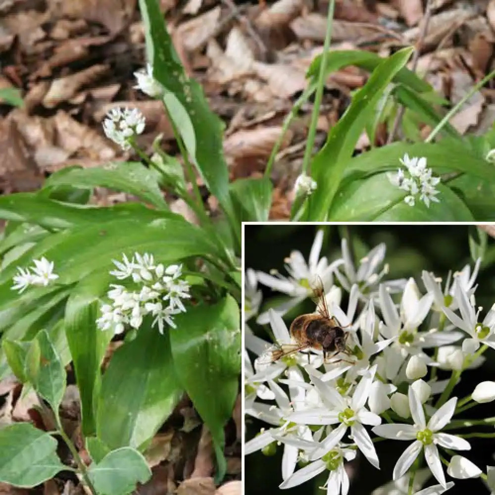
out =
<path fill-rule="evenodd" d="M 378 284 L 389 272 L 389 265 L 387 264 L 383 266 L 381 271 L 378 271 L 383 264 L 386 250 L 385 244 L 379 244 L 371 249 L 366 256 L 361 258 L 359 266 L 355 267 L 349 248 L 347 247 L 347 240 L 343 239 L 342 263 L 340 263 L 342 264 L 342 271 L 341 268 L 336 269 L 335 277 L 347 292 L 350 292 L 352 285 L 356 284 L 361 297 L 365 299 L 374 297 L 377 293 Z M 401 291 L 404 284 L 404 279 L 383 282 L 383 285 L 392 294 Z"/>

